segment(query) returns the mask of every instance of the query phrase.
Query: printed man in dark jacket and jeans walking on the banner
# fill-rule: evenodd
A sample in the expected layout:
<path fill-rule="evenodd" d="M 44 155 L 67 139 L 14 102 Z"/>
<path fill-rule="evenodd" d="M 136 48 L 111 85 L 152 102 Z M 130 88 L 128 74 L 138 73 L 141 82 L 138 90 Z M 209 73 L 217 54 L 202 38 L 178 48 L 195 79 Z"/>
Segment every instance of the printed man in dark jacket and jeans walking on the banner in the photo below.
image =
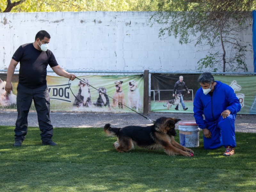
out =
<path fill-rule="evenodd" d="M 186 83 L 183 81 L 183 76 L 180 76 L 180 79 L 174 85 L 172 96 L 175 97 L 175 94 L 179 94 L 182 108 L 184 111 L 186 111 L 188 108 L 185 106 L 185 103 L 183 100 L 184 92 L 190 93 L 188 91 L 188 87 Z M 176 105 L 175 110 L 179 110 L 179 105 Z"/>

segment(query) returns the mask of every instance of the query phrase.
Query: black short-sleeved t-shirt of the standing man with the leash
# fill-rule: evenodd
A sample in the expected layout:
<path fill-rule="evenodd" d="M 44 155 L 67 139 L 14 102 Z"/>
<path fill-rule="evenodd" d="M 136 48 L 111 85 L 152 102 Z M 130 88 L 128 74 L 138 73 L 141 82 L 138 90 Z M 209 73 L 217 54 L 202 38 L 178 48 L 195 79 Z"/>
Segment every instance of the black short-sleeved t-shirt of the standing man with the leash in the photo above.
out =
<path fill-rule="evenodd" d="M 50 50 L 39 51 L 32 43 L 21 45 L 12 59 L 20 62 L 19 83 L 29 88 L 45 85 L 48 64 L 58 65 Z"/>

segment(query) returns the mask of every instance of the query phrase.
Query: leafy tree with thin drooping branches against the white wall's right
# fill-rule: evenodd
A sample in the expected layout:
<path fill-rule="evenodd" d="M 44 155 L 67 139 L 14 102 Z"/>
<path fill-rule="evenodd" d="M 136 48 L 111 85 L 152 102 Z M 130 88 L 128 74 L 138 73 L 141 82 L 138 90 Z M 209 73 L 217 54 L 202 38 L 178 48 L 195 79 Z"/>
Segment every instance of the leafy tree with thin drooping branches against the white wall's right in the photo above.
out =
<path fill-rule="evenodd" d="M 199 69 L 248 71 L 247 43 L 239 35 L 248 29 L 255 7 L 256 0 L 159 0 L 159 11 L 150 22 L 163 26 L 159 31 L 161 38 L 174 36 L 180 44 L 207 46 L 212 54 L 199 60 Z"/>

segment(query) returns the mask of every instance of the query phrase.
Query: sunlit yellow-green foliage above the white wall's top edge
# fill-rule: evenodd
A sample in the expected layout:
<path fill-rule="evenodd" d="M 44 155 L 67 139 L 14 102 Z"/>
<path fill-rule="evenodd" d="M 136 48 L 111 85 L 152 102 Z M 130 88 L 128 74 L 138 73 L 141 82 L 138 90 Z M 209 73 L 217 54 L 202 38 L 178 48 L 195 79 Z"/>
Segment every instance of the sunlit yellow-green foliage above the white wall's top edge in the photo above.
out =
<path fill-rule="evenodd" d="M 2 12 L 6 6 L 7 0 L 1 0 Z M 13 7 L 11 12 L 153 11 L 156 9 L 156 0 L 25 0 Z"/>

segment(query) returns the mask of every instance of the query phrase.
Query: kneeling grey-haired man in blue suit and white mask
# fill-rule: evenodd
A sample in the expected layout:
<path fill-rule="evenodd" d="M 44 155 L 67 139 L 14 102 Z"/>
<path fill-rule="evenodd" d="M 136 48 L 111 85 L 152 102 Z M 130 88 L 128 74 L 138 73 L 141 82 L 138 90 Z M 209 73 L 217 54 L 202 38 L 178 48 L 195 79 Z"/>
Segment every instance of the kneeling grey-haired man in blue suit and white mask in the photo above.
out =
<path fill-rule="evenodd" d="M 194 117 L 196 124 L 204 132 L 204 148 L 224 146 L 224 156 L 234 155 L 235 119 L 236 113 L 241 109 L 240 102 L 230 86 L 214 81 L 209 72 L 203 73 L 198 82 L 201 88 L 195 95 Z"/>

